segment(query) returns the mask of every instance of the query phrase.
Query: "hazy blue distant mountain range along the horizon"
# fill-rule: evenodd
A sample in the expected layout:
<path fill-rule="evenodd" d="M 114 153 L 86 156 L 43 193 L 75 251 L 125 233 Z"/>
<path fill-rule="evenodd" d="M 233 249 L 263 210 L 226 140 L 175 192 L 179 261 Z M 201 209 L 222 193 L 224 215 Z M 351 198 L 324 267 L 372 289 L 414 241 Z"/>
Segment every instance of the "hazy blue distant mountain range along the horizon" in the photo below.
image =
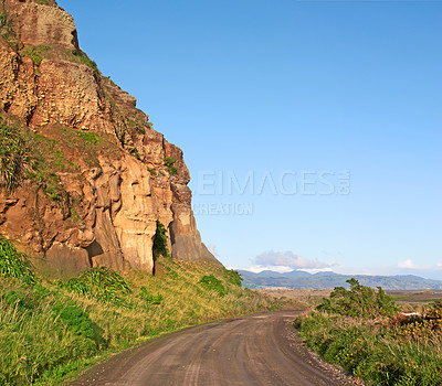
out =
<path fill-rule="evenodd" d="M 366 275 L 339 275 L 335 272 L 308 274 L 293 270 L 286 274 L 265 270 L 254 274 L 248 270 L 239 270 L 243 286 L 251 289 L 287 288 L 287 289 L 333 289 L 346 287 L 346 280 L 355 278 L 362 286 L 382 287 L 386 290 L 420 290 L 442 289 L 441 280 L 424 279 L 419 276 L 366 276 Z"/>

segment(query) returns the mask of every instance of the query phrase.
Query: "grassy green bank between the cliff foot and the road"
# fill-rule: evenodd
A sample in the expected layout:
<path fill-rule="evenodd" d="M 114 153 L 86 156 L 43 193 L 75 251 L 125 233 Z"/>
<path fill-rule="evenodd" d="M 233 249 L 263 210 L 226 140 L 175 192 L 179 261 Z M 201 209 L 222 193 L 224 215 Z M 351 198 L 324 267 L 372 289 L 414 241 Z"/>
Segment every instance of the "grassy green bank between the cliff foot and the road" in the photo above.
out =
<path fill-rule="evenodd" d="M 57 385 L 165 332 L 284 304 L 235 271 L 160 256 L 156 276 L 95 267 L 50 281 L 0 238 L 0 384 Z"/>

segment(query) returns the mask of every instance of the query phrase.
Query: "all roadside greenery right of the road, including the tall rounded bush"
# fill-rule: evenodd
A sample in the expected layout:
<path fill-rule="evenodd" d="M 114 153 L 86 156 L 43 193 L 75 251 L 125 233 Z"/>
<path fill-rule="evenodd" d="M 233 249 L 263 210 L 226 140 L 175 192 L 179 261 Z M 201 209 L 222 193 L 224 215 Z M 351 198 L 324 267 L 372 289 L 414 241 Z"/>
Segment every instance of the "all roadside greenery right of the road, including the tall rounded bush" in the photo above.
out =
<path fill-rule="evenodd" d="M 442 302 L 403 313 L 381 288 L 348 283 L 296 320 L 306 345 L 370 385 L 441 385 Z"/>

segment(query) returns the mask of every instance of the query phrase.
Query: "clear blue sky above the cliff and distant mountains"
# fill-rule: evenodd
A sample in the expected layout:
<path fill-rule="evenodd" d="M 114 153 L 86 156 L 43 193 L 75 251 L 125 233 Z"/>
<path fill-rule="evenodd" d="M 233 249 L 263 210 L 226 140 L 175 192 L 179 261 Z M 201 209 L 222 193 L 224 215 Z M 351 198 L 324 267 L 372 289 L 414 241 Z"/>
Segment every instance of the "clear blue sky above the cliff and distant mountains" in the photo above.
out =
<path fill-rule="evenodd" d="M 442 279 L 442 2 L 75 1 L 228 267 Z"/>

